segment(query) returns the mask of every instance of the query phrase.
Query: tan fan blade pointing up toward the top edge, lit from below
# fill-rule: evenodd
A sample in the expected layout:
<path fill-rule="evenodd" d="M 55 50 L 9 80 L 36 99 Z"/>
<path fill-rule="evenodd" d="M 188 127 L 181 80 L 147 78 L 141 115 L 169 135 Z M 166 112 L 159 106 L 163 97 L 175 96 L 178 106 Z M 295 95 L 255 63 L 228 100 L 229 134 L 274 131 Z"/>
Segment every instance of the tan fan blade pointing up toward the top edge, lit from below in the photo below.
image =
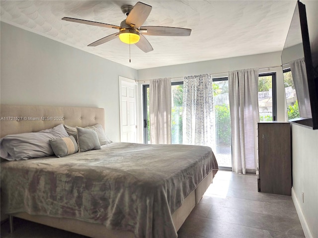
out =
<path fill-rule="evenodd" d="M 139 28 L 146 21 L 152 8 L 152 6 L 140 1 L 137 2 L 133 9 L 131 9 L 129 12 L 126 19 L 126 24 L 129 26 L 133 25 L 135 28 Z"/>

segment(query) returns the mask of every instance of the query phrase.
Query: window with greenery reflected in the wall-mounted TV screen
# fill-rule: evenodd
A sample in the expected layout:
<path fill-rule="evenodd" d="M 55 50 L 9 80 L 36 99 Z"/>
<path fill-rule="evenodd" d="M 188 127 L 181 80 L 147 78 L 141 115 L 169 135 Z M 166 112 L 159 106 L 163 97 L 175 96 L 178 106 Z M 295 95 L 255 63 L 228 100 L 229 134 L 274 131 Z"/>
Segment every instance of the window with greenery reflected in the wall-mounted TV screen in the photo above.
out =
<path fill-rule="evenodd" d="M 284 85 L 287 103 L 288 119 L 300 118 L 296 90 L 293 82 L 293 76 L 290 68 L 284 69 Z"/>

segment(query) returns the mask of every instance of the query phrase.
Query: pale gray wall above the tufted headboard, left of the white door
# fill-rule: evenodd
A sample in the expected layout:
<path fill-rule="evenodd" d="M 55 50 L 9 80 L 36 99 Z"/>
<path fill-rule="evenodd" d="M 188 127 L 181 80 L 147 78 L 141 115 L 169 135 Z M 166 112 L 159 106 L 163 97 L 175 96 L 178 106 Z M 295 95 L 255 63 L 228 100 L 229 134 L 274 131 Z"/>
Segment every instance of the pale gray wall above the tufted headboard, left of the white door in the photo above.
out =
<path fill-rule="evenodd" d="M 100 107 L 120 140 L 118 76 L 137 70 L 1 22 L 1 104 Z"/>

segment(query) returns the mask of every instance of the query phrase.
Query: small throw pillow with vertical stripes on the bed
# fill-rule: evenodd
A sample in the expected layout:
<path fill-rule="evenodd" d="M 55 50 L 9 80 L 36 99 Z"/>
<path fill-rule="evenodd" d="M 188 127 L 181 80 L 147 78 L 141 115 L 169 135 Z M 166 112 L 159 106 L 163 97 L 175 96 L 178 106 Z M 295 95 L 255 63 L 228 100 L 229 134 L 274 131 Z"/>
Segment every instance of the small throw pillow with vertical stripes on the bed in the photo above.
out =
<path fill-rule="evenodd" d="M 79 151 L 78 143 L 72 135 L 50 140 L 50 145 L 57 157 L 64 157 Z"/>

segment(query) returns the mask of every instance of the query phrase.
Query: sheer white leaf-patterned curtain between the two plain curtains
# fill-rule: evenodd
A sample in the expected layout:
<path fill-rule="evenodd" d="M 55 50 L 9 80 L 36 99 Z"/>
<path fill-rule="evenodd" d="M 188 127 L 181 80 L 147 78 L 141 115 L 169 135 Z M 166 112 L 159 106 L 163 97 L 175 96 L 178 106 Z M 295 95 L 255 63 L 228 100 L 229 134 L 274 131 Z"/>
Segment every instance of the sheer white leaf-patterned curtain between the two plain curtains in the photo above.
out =
<path fill-rule="evenodd" d="M 215 148 L 215 121 L 211 74 L 184 77 L 183 144 Z"/>

